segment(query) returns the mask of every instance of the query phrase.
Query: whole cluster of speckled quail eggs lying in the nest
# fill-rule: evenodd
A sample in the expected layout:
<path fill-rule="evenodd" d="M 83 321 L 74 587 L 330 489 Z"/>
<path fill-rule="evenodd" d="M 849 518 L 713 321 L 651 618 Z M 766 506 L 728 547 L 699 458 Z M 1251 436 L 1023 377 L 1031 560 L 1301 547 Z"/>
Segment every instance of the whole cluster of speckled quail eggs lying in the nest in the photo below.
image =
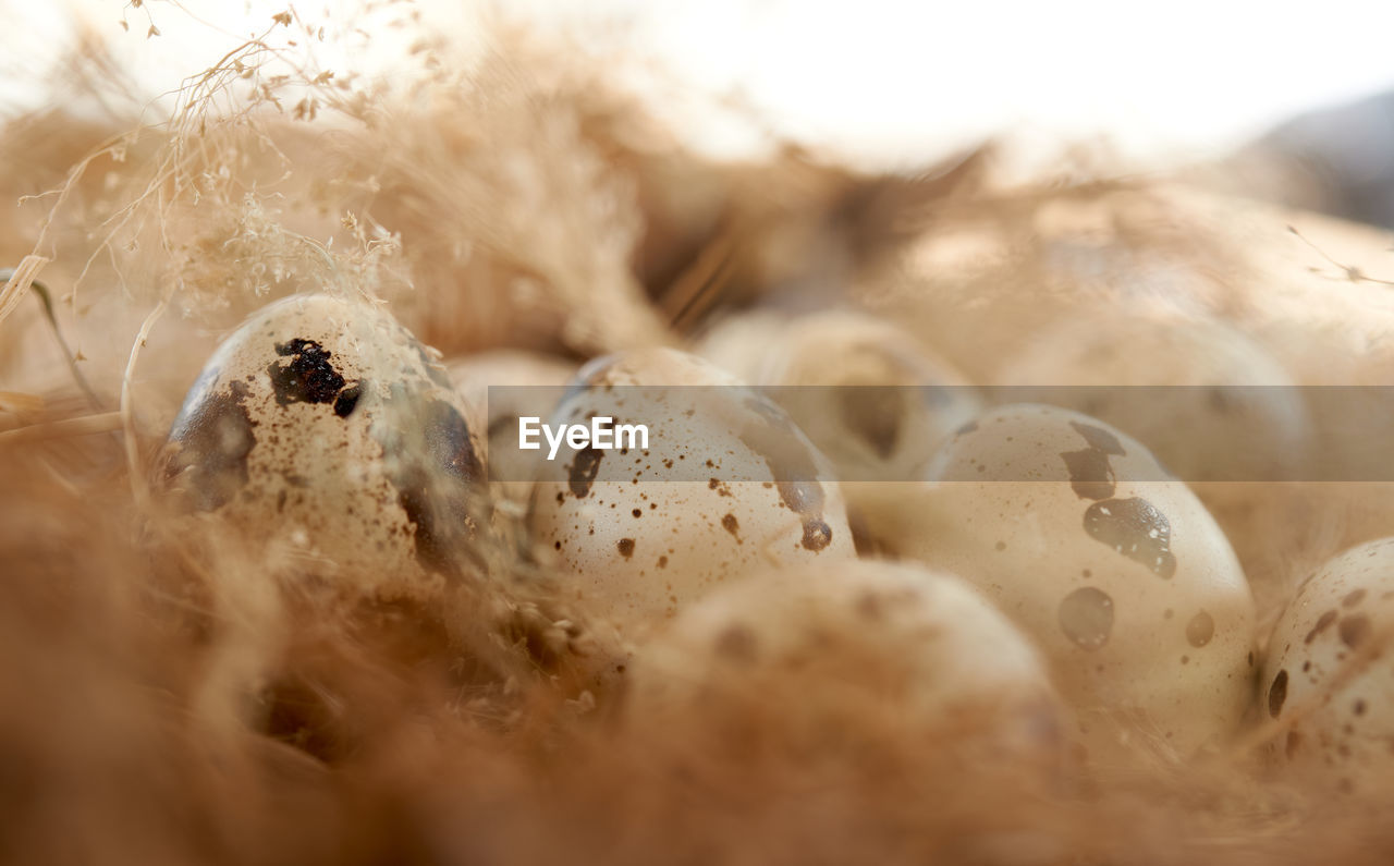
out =
<path fill-rule="evenodd" d="M 1019 375 L 1087 381 L 1103 351 L 1090 333 L 1033 347 Z M 1223 328 L 1188 333 L 1224 347 L 1217 368 L 1282 381 Z M 1204 378 L 1192 367 L 1206 350 L 1163 354 L 1175 370 L 1146 375 Z M 487 385 L 567 381 L 555 406 L 484 399 Z M 662 386 L 696 386 L 703 403 Z M 1280 400 L 1217 411 L 1306 435 Z M 538 462 L 528 481 L 513 467 L 491 489 L 488 460 L 516 453 L 521 414 L 623 416 L 650 442 Z M 895 671 L 895 706 L 926 728 L 972 711 L 1002 742 L 1041 747 L 1058 727 L 1098 766 L 1185 760 L 1264 721 L 1284 722 L 1295 760 L 1387 763 L 1394 542 L 1319 569 L 1264 658 L 1225 533 L 1119 427 L 1202 476 L 1274 459 L 1186 450 L 1146 406 L 988 407 L 864 314 L 735 319 L 696 354 L 643 349 L 577 371 L 526 353 L 446 365 L 381 307 L 297 296 L 215 351 L 159 481 L 185 510 L 297 547 L 316 577 L 374 595 L 485 577 L 478 551 L 512 512 L 530 563 L 629 641 L 629 708 L 650 718 L 758 697 L 820 658 L 820 689 L 884 700 L 866 665 L 836 661 L 855 657 Z M 664 481 L 676 464 L 710 477 Z"/>

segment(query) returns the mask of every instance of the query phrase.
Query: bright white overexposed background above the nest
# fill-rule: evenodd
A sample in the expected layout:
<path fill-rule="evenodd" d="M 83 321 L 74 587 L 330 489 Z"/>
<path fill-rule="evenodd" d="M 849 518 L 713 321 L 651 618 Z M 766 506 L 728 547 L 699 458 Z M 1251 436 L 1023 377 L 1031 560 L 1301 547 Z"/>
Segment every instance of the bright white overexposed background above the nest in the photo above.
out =
<path fill-rule="evenodd" d="M 286 3 L 190 1 L 227 33 L 167 1 L 0 0 L 0 110 L 42 102 L 46 67 L 86 20 L 152 92 L 208 66 Z M 361 6 L 361 3 L 354 4 Z M 376 3 L 406 10 L 406 3 Z M 464 0 L 420 0 L 438 32 L 478 32 Z M 471 7 L 478 8 L 478 4 Z M 297 4 L 307 18 L 339 4 Z M 499 0 L 495 11 L 541 31 L 583 35 L 602 56 L 636 57 L 634 86 L 715 152 L 760 141 L 721 100 L 771 130 L 880 167 L 924 162 L 1011 131 L 1050 152 L 1105 137 L 1129 165 L 1217 155 L 1271 124 L 1394 85 L 1394 3 L 1326 0 Z M 146 40 L 151 15 L 162 36 Z M 118 21 L 125 18 L 130 31 Z M 406 42 L 375 33 L 353 64 L 389 71 Z M 396 40 L 395 40 L 396 39 Z M 322 50 L 326 61 L 336 57 Z M 342 59 L 340 59 L 342 60 Z M 651 75 L 644 70 L 665 70 Z"/>

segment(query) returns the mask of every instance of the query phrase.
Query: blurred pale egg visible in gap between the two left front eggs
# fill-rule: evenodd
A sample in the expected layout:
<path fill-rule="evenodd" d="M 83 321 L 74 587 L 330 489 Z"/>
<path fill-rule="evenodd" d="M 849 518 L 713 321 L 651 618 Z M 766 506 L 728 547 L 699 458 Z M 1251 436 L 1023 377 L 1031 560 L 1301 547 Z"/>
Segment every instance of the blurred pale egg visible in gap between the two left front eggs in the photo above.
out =
<path fill-rule="evenodd" d="M 553 356 L 513 349 L 481 351 L 447 367 L 456 390 L 475 416 L 485 418 L 485 455 L 495 505 L 526 506 L 537 473 L 537 452 L 517 448 L 519 418 L 545 418 L 576 364 Z M 489 393 L 489 386 L 495 386 Z"/>

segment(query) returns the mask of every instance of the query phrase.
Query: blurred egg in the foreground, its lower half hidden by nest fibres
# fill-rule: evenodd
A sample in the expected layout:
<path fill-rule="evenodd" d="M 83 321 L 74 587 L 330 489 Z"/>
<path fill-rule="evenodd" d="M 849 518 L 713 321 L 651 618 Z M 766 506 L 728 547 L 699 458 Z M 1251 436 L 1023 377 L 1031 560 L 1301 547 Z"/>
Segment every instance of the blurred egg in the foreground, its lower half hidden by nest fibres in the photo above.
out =
<path fill-rule="evenodd" d="M 771 696 L 820 747 L 820 731 L 878 714 L 987 739 L 998 756 L 1062 742 L 1036 648 L 967 584 L 914 563 L 803 565 L 718 590 L 640 650 L 626 708 L 630 724 L 682 728 L 722 708 L 749 717 Z"/>

